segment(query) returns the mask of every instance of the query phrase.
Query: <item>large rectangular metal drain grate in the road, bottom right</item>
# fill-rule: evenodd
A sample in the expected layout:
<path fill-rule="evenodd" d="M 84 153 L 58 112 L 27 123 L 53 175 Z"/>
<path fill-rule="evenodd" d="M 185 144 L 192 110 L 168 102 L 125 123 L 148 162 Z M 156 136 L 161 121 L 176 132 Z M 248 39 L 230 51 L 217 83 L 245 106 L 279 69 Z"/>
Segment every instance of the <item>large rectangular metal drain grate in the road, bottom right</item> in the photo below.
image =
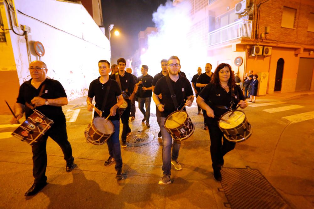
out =
<path fill-rule="evenodd" d="M 221 175 L 221 185 L 231 208 L 289 208 L 257 169 L 223 168 Z"/>

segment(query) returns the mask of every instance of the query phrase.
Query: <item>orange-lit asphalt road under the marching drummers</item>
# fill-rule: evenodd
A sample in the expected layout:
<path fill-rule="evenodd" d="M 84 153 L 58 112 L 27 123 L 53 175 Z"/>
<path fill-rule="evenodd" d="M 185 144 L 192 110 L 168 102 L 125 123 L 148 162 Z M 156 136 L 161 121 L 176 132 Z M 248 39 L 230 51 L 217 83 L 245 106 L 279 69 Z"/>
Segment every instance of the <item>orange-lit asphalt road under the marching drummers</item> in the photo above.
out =
<path fill-rule="evenodd" d="M 258 169 L 290 207 L 313 208 L 312 101 L 313 95 L 281 101 L 257 97 L 257 102 L 245 109 L 252 124 L 252 137 L 238 143 L 225 156 L 224 167 Z M 196 129 L 181 145 L 178 160 L 183 169 L 176 171 L 172 166 L 172 184 L 161 186 L 158 180 L 162 175 L 162 146 L 157 137 L 154 104 L 151 128 L 141 122 L 143 116 L 138 108 L 135 120 L 130 121 L 132 130 L 151 133 L 154 139 L 149 144 L 122 149 L 127 178 L 119 182 L 115 180 L 114 165 L 103 165 L 108 158 L 107 146 L 89 144 L 84 139 L 91 112 L 86 106 L 65 111 L 67 121 L 72 121 L 67 123 L 67 130 L 77 167 L 71 173 L 65 172 L 62 151 L 49 138 L 49 184 L 32 198 L 24 197 L 33 183 L 31 147 L 10 137 L 15 129 L 5 125 L 10 116 L 0 116 L 0 208 L 225 208 L 228 200 L 224 192 L 218 191 L 220 182 L 213 178 L 203 116 L 196 114 L 195 106 L 187 112 Z"/>

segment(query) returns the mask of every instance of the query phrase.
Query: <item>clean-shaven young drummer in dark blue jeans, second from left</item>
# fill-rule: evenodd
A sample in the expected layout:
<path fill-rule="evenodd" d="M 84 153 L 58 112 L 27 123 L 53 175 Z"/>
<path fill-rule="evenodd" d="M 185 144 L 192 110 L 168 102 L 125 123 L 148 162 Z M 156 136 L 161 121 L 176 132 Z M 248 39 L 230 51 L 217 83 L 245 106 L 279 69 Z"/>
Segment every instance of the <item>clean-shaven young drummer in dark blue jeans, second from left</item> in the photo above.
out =
<path fill-rule="evenodd" d="M 100 76 L 89 85 L 88 96 L 86 99 L 88 104 L 87 109 L 89 111 L 93 110 L 91 104 L 95 97 L 95 107 L 103 112 L 102 115 L 98 115 L 95 111 L 94 118 L 107 118 L 110 115 L 108 120 L 114 125 L 114 133 L 107 140 L 110 156 L 105 162 L 105 165 L 110 165 L 113 161 L 116 161 L 116 179 L 122 180 L 124 177 L 122 175 L 122 158 L 119 142 L 120 118 L 119 114 L 117 114 L 117 108 L 122 105 L 123 98 L 118 83 L 115 80 L 109 79 L 109 73 L 111 71 L 110 63 L 107 60 L 100 60 L 98 62 L 98 71 Z"/>

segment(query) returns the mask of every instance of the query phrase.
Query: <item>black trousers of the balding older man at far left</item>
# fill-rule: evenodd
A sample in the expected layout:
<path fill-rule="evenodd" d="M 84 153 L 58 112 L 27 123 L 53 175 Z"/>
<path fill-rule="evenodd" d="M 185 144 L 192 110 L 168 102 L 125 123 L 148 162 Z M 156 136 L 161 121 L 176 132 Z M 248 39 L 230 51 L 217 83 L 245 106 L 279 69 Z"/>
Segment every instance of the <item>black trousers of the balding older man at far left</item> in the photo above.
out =
<path fill-rule="evenodd" d="M 67 163 L 72 163 L 74 158 L 72 156 L 71 144 L 68 141 L 66 123 L 54 123 L 45 135 L 32 146 L 33 152 L 33 176 L 34 183 L 43 183 L 47 181 L 46 167 L 47 167 L 47 152 L 46 144 L 47 138 L 50 136 L 61 147 L 64 159 Z"/>

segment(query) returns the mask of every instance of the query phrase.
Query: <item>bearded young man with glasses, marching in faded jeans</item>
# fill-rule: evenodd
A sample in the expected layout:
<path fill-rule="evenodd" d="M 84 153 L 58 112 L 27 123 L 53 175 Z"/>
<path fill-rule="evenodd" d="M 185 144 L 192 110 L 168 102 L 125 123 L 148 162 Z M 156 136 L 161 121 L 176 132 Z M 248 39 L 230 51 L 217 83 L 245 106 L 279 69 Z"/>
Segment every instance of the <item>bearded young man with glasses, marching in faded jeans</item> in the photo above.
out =
<path fill-rule="evenodd" d="M 173 142 L 172 154 L 171 154 L 171 141 L 172 137 L 165 129 L 165 119 L 168 115 L 176 110 L 180 110 L 183 106 L 191 106 L 193 102 L 193 91 L 191 84 L 187 78 L 179 74 L 181 65 L 180 60 L 176 56 L 171 56 L 167 60 L 167 69 L 169 71 L 168 76 L 160 78 L 154 88 L 153 100 L 156 103 L 158 110 L 161 112 L 160 128 L 162 135 L 162 170 L 163 177 L 160 179 L 160 185 L 170 184 L 171 164 L 175 166 L 176 170 L 181 170 L 182 167 L 179 163 L 178 156 L 180 150 L 180 143 L 176 140 Z M 168 81 L 166 79 L 169 79 Z M 171 90 L 168 87 L 168 82 L 172 86 L 174 95 L 171 94 Z M 162 95 L 162 103 L 159 100 L 158 95 Z M 175 102 L 176 101 L 176 102 Z M 175 107 L 175 103 L 178 107 Z M 185 110 L 185 108 L 183 109 Z"/>

